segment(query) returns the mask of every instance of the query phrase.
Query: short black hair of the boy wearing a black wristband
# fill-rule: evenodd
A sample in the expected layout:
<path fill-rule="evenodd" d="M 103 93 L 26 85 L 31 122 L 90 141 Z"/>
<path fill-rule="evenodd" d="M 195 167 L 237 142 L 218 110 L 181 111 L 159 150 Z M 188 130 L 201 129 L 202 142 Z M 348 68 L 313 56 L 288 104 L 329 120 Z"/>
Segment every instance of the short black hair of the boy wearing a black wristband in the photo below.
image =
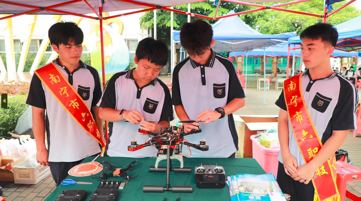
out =
<path fill-rule="evenodd" d="M 164 41 L 152 37 L 139 41 L 135 50 L 138 59 L 147 59 L 149 62 L 157 66 L 165 66 L 168 62 L 169 52 L 168 46 Z"/>

